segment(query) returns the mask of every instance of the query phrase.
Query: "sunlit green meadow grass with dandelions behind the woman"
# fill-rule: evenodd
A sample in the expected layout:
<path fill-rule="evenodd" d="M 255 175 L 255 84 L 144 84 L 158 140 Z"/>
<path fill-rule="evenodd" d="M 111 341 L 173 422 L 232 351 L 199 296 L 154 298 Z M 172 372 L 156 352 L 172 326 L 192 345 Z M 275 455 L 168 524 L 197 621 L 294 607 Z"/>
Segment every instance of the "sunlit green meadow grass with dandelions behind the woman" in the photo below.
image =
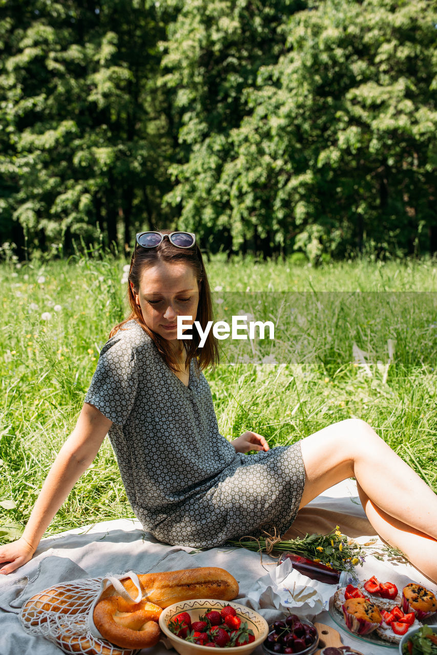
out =
<path fill-rule="evenodd" d="M 125 316 L 125 263 L 76 257 L 0 266 L 3 540 L 26 523 L 75 424 L 98 352 Z M 273 446 L 359 417 L 437 491 L 431 260 L 312 269 L 217 256 L 208 269 L 217 318 L 230 322 L 232 314 L 249 312 L 275 325 L 273 342 L 223 341 L 219 367 L 206 374 L 222 434 L 255 430 Z M 354 344 L 366 353 L 365 366 Z M 126 516 L 133 513 L 105 440 L 49 533 Z"/>

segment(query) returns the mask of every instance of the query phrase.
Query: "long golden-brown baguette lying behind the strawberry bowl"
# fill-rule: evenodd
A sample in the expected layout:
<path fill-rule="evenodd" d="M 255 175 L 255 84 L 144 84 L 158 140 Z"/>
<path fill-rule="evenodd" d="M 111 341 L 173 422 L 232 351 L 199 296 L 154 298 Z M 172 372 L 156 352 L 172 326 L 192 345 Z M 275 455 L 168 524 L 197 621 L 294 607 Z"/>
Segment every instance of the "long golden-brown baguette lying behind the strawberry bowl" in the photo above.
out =
<path fill-rule="evenodd" d="M 182 569 L 160 573 L 142 573 L 138 575 L 142 599 L 165 609 L 173 603 L 194 598 L 214 598 L 220 601 L 232 601 L 238 595 L 236 579 L 218 567 L 200 567 L 199 569 Z M 131 578 L 120 580 L 126 591 L 135 597 L 137 589 Z M 117 595 L 111 585 L 102 593 L 101 598 Z"/>

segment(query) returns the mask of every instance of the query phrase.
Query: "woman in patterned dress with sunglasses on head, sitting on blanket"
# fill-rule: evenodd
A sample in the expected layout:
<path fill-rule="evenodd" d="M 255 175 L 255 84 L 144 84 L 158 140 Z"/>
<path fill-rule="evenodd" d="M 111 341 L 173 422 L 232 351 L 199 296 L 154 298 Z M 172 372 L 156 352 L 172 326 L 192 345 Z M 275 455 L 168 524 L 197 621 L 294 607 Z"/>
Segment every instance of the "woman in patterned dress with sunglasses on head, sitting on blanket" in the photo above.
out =
<path fill-rule="evenodd" d="M 136 237 L 131 314 L 104 345 L 72 434 L 45 480 L 22 537 L 0 548 L 0 573 L 29 561 L 52 517 L 108 433 L 133 510 L 168 544 L 212 547 L 262 531 L 283 534 L 299 508 L 355 477 L 369 521 L 437 582 L 437 496 L 364 421 L 348 419 L 273 449 L 245 432 L 218 432 L 201 371 L 218 360 L 212 331 L 177 338 L 177 317 L 212 320 L 194 234 Z M 254 455 L 245 455 L 258 451 Z"/>

